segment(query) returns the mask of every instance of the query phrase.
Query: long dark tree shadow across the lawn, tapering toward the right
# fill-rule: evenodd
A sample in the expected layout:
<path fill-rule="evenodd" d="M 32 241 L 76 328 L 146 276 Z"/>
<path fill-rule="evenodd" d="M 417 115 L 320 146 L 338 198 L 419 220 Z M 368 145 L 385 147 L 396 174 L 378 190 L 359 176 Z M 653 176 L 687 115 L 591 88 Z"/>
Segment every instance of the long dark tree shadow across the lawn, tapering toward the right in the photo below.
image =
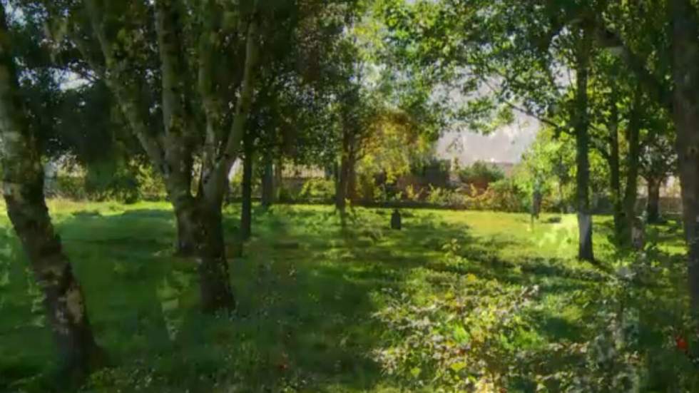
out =
<path fill-rule="evenodd" d="M 235 213 L 227 210 L 225 216 L 229 242 L 238 227 Z M 375 209 L 357 210 L 345 226 L 330 207 L 274 206 L 255 213 L 243 257 L 230 260 L 236 311 L 218 317 L 199 312 L 195 264 L 173 257 L 171 211 L 73 215 L 58 223 L 97 340 L 113 364 L 90 388 L 367 391 L 388 383 L 372 360 L 384 329 L 372 317 L 382 307 L 377 293 L 407 287 L 414 269 L 538 284 L 545 294 L 574 291 L 596 279 L 576 277 L 561 261 L 502 260 L 497 250 L 517 247 L 515 240 L 476 237 L 468 225 L 445 223 L 429 211 L 406 211 L 403 230 L 391 230 L 389 215 Z M 444 262 L 452 239 L 463 245 L 461 265 Z M 13 280 L 26 286 L 22 274 Z M 31 320 L 31 297 L 13 299 L 14 323 Z M 556 337 L 576 334 L 561 333 L 570 326 L 556 318 L 541 315 L 542 329 Z M 48 337 L 46 327 L 36 329 Z M 32 330 L 10 336 L 25 343 L 18 350 L 26 356 L 12 362 L 0 357 L 0 387 L 3 379 L 6 386 L 16 384 L 51 364 L 45 349 L 50 340 L 35 336 Z M 0 347 L 7 340 L 0 337 Z M 33 363 L 31 354 L 39 357 Z M 16 371 L 26 364 L 34 366 Z"/>

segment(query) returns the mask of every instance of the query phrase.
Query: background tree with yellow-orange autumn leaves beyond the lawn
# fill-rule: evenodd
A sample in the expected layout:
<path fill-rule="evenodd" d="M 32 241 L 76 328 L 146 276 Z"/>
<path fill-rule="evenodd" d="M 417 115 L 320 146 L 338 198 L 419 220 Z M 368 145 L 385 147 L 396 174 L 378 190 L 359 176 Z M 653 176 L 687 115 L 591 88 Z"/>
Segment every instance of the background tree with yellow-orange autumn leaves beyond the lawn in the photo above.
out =
<path fill-rule="evenodd" d="M 372 4 L 363 19 L 354 21 L 338 51 L 334 109 L 340 163 L 335 205 L 341 212 L 346 200 L 357 200 L 358 172 L 365 185 L 377 174 L 391 180 L 408 172 L 431 153 L 449 116 L 437 98 L 432 72 L 420 68 L 414 58 L 404 59 L 402 44 L 386 45 L 394 38 L 389 31 L 395 22 L 386 14 L 391 6 L 404 6 L 388 3 Z M 426 6 L 424 11 L 429 21 L 434 9 Z M 407 145 L 413 148 L 405 150 Z"/>

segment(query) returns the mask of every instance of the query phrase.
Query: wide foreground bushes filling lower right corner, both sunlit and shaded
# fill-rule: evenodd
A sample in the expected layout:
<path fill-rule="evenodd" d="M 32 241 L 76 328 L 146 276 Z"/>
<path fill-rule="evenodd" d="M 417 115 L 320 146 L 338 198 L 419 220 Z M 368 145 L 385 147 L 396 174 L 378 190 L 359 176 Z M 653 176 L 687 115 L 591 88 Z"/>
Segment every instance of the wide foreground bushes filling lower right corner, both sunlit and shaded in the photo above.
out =
<path fill-rule="evenodd" d="M 384 290 L 375 317 L 387 344 L 374 352 L 407 390 L 434 392 L 698 392 L 697 321 L 686 299 L 651 290 L 684 285 L 675 257 L 650 245 L 596 272 L 571 302 L 581 312 L 572 341 L 539 334 L 538 287 L 503 285 L 466 271 L 451 240 L 406 292 Z M 428 277 L 426 279 L 426 277 Z M 549 292 L 550 293 L 550 292 Z"/>

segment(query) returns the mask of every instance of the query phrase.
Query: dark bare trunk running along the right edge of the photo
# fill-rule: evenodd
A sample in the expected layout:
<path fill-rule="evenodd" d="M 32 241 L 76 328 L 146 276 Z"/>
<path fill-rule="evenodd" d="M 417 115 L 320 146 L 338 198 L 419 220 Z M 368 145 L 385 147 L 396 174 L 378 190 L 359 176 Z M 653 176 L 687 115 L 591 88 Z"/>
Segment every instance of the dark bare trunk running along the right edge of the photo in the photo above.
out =
<path fill-rule="evenodd" d="M 689 290 L 699 310 L 699 26 L 689 0 L 671 2 L 673 16 L 673 117 L 677 138 L 683 221 L 688 244 Z"/>

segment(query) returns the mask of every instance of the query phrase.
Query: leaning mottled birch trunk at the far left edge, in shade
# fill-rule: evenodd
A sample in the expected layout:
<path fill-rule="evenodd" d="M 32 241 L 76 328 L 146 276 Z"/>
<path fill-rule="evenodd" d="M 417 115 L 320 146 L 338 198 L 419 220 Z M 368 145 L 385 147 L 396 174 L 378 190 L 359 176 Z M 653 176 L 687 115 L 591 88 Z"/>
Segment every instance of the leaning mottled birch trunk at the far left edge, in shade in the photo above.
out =
<path fill-rule="evenodd" d="M 7 213 L 29 258 L 69 382 L 78 382 L 98 365 L 97 346 L 81 286 L 53 230 L 44 200 L 44 170 L 31 135 L 17 83 L 6 14 L 0 4 L 0 137 L 3 141 L 3 194 Z"/>

